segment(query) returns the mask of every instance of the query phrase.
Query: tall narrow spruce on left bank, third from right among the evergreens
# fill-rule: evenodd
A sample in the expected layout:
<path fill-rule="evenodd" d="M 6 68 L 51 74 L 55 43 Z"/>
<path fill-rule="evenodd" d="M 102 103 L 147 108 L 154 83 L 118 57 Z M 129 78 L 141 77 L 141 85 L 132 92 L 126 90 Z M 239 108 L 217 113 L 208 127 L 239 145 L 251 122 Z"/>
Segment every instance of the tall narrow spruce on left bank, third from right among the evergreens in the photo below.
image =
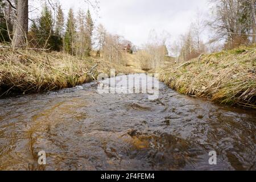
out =
<path fill-rule="evenodd" d="M 72 55 L 75 54 L 74 50 L 74 44 L 75 44 L 75 34 L 76 34 L 76 20 L 74 17 L 73 10 L 70 9 L 68 13 L 68 20 L 67 20 L 67 26 L 65 31 L 65 38 L 64 38 L 64 46 L 65 51 L 68 53 L 71 53 Z"/>

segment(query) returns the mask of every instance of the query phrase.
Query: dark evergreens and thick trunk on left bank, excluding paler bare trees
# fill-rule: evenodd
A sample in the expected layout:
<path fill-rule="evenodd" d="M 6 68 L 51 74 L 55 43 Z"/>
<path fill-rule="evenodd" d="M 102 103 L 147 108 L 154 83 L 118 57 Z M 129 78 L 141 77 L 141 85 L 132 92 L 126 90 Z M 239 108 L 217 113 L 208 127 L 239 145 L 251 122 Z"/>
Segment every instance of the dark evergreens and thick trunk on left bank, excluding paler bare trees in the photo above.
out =
<path fill-rule="evenodd" d="M 90 10 L 70 9 L 67 20 L 60 4 L 44 3 L 39 18 L 31 19 L 28 27 L 28 1 L 0 0 L 0 42 L 13 47 L 65 51 L 72 55 L 89 56 L 92 50 L 94 23 Z"/>

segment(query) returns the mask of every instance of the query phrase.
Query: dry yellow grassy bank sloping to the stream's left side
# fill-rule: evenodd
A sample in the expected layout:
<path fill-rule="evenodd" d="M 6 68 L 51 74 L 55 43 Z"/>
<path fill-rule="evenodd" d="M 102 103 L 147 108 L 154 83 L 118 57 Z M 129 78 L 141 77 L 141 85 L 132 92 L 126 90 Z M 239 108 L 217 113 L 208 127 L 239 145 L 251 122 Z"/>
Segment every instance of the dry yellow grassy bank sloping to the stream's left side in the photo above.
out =
<path fill-rule="evenodd" d="M 39 93 L 92 81 L 88 73 L 97 63 L 93 69 L 96 78 L 98 73 L 109 73 L 110 68 L 115 68 L 117 73 L 132 72 L 101 59 L 77 59 L 60 52 L 0 49 L 0 96 Z"/>

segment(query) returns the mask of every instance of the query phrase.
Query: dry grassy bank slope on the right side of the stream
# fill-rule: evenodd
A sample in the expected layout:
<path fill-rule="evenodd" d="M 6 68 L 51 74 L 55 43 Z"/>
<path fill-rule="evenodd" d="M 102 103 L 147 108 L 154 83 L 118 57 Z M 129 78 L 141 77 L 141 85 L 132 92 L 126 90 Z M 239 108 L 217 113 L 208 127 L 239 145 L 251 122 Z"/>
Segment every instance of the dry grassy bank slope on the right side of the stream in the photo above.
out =
<path fill-rule="evenodd" d="M 158 72 L 180 93 L 256 109 L 256 46 L 202 55 Z"/>

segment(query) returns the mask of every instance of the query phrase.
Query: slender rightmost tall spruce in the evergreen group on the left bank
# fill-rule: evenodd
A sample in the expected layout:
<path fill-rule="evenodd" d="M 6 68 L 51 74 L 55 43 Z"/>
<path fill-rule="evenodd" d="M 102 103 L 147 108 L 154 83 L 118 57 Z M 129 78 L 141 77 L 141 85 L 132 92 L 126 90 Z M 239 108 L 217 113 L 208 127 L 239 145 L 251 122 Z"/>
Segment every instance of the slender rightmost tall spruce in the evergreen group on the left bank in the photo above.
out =
<path fill-rule="evenodd" d="M 90 10 L 87 11 L 86 17 L 85 17 L 85 22 L 86 22 L 86 50 L 85 54 L 87 56 L 90 56 L 90 51 L 92 51 L 92 34 L 93 34 L 93 20 L 92 16 L 90 15 Z"/>

